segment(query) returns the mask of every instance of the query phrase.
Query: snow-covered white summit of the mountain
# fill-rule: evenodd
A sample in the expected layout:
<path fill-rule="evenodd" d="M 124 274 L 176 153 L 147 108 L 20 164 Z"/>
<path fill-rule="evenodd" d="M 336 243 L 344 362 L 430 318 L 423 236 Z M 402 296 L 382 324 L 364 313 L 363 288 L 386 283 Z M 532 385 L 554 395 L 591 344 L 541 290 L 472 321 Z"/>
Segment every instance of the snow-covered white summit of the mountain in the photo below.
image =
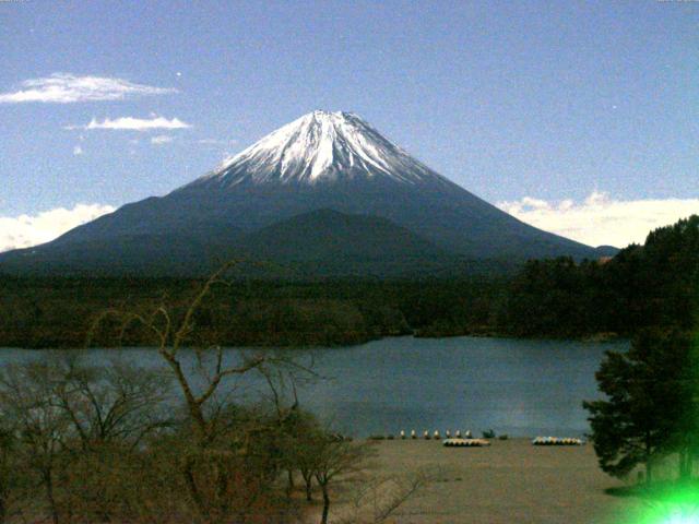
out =
<path fill-rule="evenodd" d="M 355 179 L 447 182 L 357 115 L 312 111 L 226 159 L 190 186 L 315 186 Z"/>

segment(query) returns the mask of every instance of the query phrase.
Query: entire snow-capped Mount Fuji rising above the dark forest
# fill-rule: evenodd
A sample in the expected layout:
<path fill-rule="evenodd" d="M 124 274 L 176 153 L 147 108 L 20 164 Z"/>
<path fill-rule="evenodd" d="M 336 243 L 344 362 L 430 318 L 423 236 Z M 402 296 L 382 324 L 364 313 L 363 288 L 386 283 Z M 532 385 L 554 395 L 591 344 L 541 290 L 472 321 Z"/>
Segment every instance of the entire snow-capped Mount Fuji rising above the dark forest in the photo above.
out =
<path fill-rule="evenodd" d="M 481 200 L 357 115 L 313 111 L 165 196 L 0 254 L 0 272 L 193 275 L 244 257 L 307 276 L 390 276 L 602 254 Z"/>

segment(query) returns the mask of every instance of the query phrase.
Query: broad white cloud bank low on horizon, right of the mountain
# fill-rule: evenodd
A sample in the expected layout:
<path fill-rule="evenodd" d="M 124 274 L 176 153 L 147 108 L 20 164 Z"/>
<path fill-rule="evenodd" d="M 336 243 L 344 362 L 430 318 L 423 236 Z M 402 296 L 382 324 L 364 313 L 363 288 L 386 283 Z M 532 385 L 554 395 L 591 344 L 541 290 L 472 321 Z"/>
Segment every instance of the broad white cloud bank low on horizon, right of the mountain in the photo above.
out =
<path fill-rule="evenodd" d="M 699 214 L 699 199 L 614 200 L 599 191 L 593 191 L 581 203 L 572 200 L 555 203 L 524 196 L 497 205 L 541 229 L 589 246 L 619 248 L 631 242 L 643 243 L 652 229 Z"/>

